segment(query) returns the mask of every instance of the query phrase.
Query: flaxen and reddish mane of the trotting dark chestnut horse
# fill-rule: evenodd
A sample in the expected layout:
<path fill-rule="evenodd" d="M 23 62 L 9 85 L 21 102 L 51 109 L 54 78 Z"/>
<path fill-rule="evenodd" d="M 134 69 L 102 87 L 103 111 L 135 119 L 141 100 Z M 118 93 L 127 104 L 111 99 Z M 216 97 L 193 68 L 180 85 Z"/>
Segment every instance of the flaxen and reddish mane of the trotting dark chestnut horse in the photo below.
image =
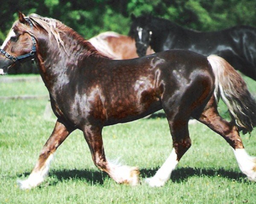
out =
<path fill-rule="evenodd" d="M 29 18 L 29 20 L 31 20 L 33 26 L 35 26 L 36 28 L 38 28 L 38 26 L 40 26 L 47 32 L 48 37 L 49 37 L 49 42 L 50 42 L 49 45 L 51 45 L 51 41 L 52 41 L 52 37 L 53 37 L 57 41 L 58 47 L 61 46 L 64 48 L 64 51 L 66 51 L 66 49 L 64 47 L 64 42 L 61 39 L 60 34 L 72 35 L 74 37 L 74 39 L 78 40 L 81 43 L 81 45 L 84 45 L 84 47 L 88 51 L 88 54 L 97 55 L 100 57 L 106 57 L 106 56 L 100 54 L 96 50 L 96 48 L 94 48 L 93 45 L 91 45 L 90 42 L 85 40 L 81 35 L 79 35 L 72 28 L 61 23 L 61 21 L 53 19 L 53 18 L 42 17 L 38 14 L 30 14 L 28 16 L 28 18 Z M 26 31 L 27 31 L 27 27 L 25 28 L 25 25 L 24 25 L 23 29 L 26 29 Z"/>

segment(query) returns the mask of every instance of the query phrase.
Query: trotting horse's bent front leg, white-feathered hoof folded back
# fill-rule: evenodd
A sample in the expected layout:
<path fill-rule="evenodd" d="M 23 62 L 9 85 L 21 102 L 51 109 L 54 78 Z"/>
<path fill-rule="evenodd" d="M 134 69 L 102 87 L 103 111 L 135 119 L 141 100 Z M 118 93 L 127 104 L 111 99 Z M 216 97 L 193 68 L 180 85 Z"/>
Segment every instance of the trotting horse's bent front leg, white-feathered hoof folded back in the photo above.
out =
<path fill-rule="evenodd" d="M 99 170 L 108 173 L 119 184 L 125 183 L 132 186 L 139 184 L 140 171 L 137 167 L 122 166 L 107 161 L 102 141 L 102 127 L 85 126 L 84 138 L 90 148 L 93 162 Z"/>

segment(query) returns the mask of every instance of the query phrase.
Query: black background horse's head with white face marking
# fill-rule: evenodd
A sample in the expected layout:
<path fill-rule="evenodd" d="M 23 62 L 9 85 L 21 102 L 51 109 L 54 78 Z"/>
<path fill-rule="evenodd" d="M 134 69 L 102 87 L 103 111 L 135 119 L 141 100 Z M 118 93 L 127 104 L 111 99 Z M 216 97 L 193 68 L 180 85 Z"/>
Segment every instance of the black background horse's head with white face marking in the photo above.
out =
<path fill-rule="evenodd" d="M 137 54 L 139 57 L 142 57 L 146 55 L 147 48 L 151 42 L 152 31 L 149 26 L 151 17 L 135 17 L 132 14 L 131 19 L 133 23 L 131 25 L 129 35 L 134 38 Z"/>

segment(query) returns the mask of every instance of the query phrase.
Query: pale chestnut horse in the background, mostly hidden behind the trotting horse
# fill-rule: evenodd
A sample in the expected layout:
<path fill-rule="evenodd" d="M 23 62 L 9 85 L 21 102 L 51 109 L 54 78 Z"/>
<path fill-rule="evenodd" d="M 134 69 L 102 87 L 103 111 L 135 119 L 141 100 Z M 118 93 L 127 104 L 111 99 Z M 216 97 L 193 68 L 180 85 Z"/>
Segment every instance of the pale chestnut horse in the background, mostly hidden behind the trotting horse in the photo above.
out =
<path fill-rule="evenodd" d="M 135 40 L 129 36 L 108 31 L 88 40 L 99 53 L 111 59 L 132 59 L 139 57 L 136 51 Z M 154 51 L 147 48 L 145 54 L 153 54 Z"/>

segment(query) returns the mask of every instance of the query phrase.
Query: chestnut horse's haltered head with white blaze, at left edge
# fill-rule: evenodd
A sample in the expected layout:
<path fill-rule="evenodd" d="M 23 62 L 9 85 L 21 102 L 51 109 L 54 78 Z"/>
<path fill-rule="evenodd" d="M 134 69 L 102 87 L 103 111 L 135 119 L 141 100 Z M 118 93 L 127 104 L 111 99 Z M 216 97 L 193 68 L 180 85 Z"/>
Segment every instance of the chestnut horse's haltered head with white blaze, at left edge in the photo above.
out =
<path fill-rule="evenodd" d="M 34 59 L 36 41 L 32 35 L 32 23 L 19 12 L 17 20 L 0 48 L 0 75 L 6 74 L 15 62 Z"/>

